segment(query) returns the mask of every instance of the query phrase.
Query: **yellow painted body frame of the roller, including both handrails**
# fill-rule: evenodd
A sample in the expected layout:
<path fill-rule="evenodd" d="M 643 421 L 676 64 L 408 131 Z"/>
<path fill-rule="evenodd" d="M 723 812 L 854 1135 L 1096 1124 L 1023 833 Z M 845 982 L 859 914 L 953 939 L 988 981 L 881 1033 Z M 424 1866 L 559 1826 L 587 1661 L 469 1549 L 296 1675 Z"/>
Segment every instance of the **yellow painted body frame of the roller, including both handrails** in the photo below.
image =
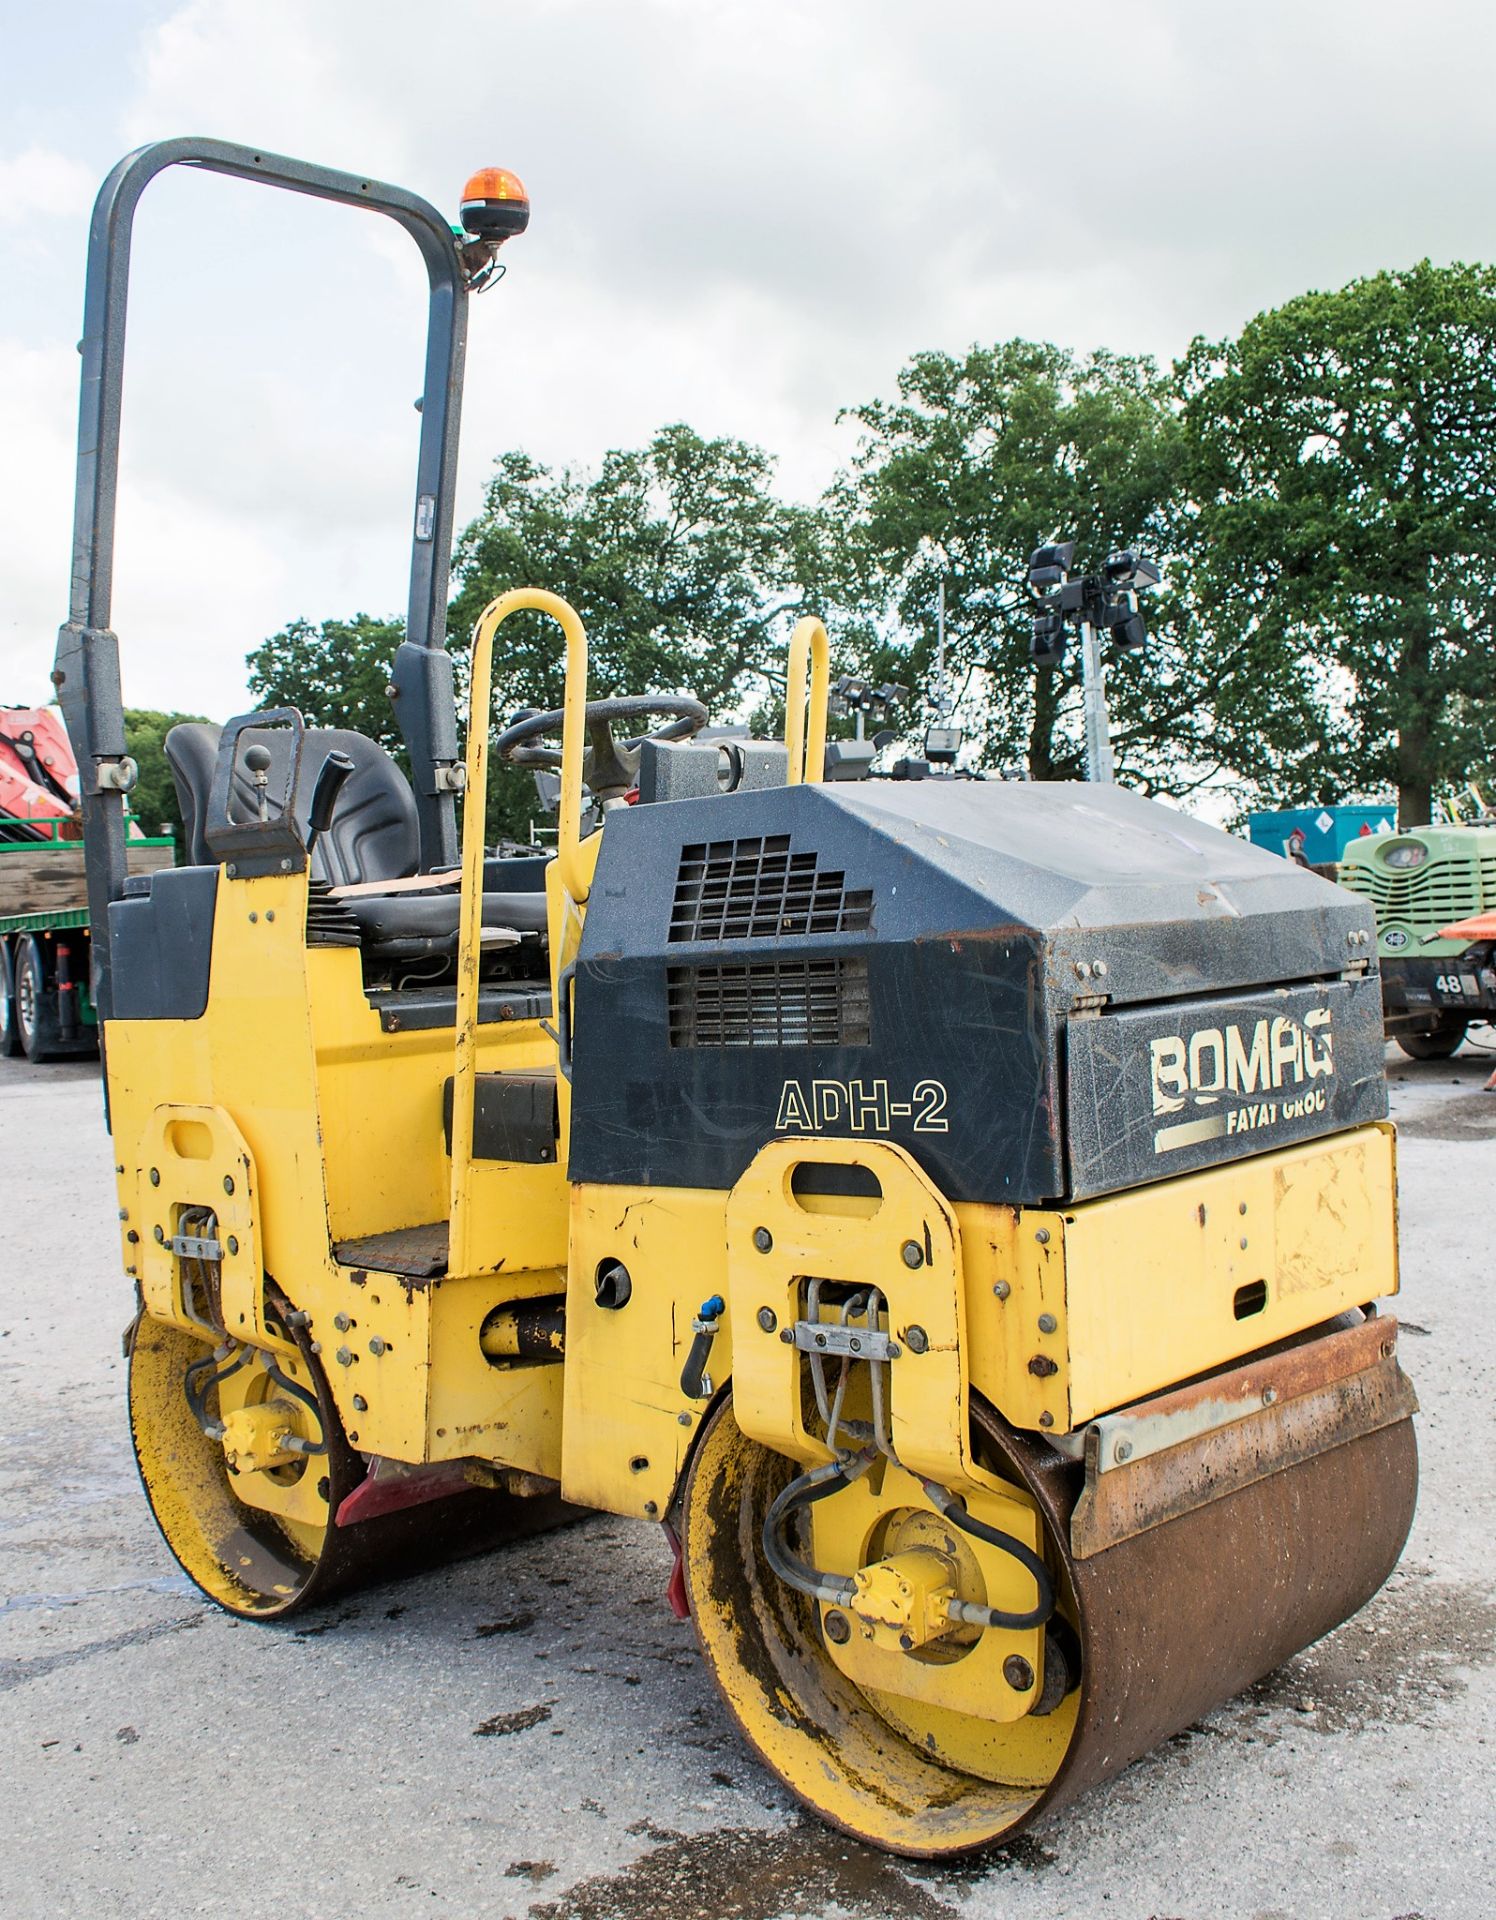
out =
<path fill-rule="evenodd" d="M 835 1139 L 770 1142 L 732 1192 L 568 1190 L 561 1079 L 557 1164 L 474 1160 L 476 1075 L 557 1060 L 540 1021 L 478 1023 L 484 716 L 497 630 L 526 609 L 557 620 L 567 643 L 559 849 L 547 874 L 559 1006 L 597 852 L 597 835 L 580 835 L 588 655 L 576 612 L 557 595 L 522 589 L 484 609 L 474 630 L 455 1050 L 440 1031 L 384 1033 L 363 996 L 357 954 L 305 947 L 305 876 L 221 877 L 202 1020 L 111 1025 L 125 1265 L 154 1317 L 202 1327 L 169 1242 L 186 1210 L 209 1210 L 225 1246 L 230 1332 L 284 1348 L 265 1325 L 265 1283 L 278 1286 L 307 1313 L 330 1361 L 351 1444 L 403 1461 L 499 1461 L 559 1480 L 582 1505 L 661 1515 L 705 1411 L 686 1400 L 678 1373 L 693 1311 L 712 1292 L 732 1304 L 712 1373 L 718 1384 L 732 1379 L 743 1430 L 810 1459 L 795 1356 L 760 1334 L 760 1308 L 784 1319 L 785 1288 L 808 1271 L 893 1271 L 908 1277 L 910 1292 L 914 1275 L 899 1248 L 933 1235 L 939 1252 L 931 1246 L 918 1271 L 929 1346 L 908 1354 L 899 1373 L 899 1446 L 974 1494 L 991 1480 L 968 1457 L 972 1390 L 1016 1427 L 1064 1436 L 1202 1367 L 1396 1292 L 1390 1127 L 1064 1212 L 951 1206 L 901 1148 Z M 791 778 L 818 778 L 828 678 L 826 630 L 805 620 L 789 655 Z M 259 1041 L 265 1031 L 280 1035 L 273 1054 Z M 177 1098 L 159 1102 L 161 1087 Z M 874 1169 L 885 1187 L 878 1219 L 807 1213 L 787 1198 L 787 1169 L 807 1160 Z M 444 1217 L 447 1269 L 428 1283 L 338 1258 L 348 1242 Z M 753 1252 L 753 1229 L 764 1223 L 776 1244 L 770 1261 Z M 609 1315 L 593 1279 L 620 1256 L 636 1304 Z M 1266 1306 L 1235 1319 L 1243 1286 L 1258 1283 Z M 495 1308 L 563 1290 L 565 1369 L 484 1356 L 480 1329 Z M 916 1313 L 893 1296 L 889 1306 L 893 1323 Z"/>

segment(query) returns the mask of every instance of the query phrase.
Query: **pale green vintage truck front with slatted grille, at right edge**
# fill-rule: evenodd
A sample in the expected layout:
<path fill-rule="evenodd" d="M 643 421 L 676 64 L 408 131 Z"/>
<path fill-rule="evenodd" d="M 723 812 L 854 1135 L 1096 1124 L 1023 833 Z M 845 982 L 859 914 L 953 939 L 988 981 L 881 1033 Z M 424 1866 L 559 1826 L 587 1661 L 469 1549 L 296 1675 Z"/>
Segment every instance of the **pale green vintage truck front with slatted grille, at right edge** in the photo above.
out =
<path fill-rule="evenodd" d="M 1492 943 L 1458 929 L 1496 912 L 1496 818 L 1354 839 L 1340 885 L 1377 910 L 1387 1033 L 1406 1054 L 1444 1060 L 1496 1018 Z"/>

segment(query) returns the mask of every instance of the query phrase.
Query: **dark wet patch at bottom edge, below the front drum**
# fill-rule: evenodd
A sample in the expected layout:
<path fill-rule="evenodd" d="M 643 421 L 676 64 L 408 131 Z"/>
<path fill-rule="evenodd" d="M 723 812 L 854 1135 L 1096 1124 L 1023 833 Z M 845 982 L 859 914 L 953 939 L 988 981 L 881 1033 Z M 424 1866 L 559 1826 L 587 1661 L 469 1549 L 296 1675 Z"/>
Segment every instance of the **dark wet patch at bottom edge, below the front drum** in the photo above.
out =
<path fill-rule="evenodd" d="M 697 1836 L 651 1826 L 649 1836 L 653 1853 L 532 1905 L 530 1920 L 785 1920 L 826 1908 L 855 1920 L 958 1916 L 897 1860 L 820 1822 L 778 1834 L 730 1828 Z"/>

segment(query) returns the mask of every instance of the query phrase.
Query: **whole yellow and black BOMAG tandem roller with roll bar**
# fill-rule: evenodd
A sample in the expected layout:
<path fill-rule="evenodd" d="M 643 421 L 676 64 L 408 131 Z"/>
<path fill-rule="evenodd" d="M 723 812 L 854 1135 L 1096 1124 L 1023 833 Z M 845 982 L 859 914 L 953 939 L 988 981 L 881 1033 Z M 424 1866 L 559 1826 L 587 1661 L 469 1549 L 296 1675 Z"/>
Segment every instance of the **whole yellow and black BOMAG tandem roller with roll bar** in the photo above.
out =
<path fill-rule="evenodd" d="M 173 163 L 374 209 L 422 252 L 392 670 L 413 774 L 288 710 L 179 730 L 188 864 L 131 879 L 125 288 Z M 396 1571 L 415 1530 L 653 1523 L 764 1764 L 874 1845 L 958 1853 L 1277 1667 L 1398 1557 L 1371 912 L 1114 787 L 822 783 L 816 622 L 787 739 L 722 749 L 691 699 L 590 699 L 578 616 L 505 593 L 461 762 L 465 303 L 526 215 L 497 171 L 455 230 L 198 140 L 100 194 L 58 685 L 108 929 L 140 1475 L 192 1580 L 252 1619 Z M 559 766 L 549 858 L 482 835 L 519 609 L 565 645 L 565 708 L 495 741 Z"/>

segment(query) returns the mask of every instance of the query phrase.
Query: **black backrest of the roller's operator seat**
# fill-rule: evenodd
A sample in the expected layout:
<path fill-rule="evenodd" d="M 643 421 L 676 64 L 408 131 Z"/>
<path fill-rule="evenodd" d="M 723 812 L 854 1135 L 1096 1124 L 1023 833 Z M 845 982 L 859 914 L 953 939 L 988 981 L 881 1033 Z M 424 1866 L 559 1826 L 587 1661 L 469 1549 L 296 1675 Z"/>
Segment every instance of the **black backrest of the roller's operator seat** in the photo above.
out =
<path fill-rule="evenodd" d="M 165 737 L 167 764 L 177 783 L 177 803 L 182 810 L 184 854 L 188 866 L 211 866 L 207 847 L 207 795 L 213 787 L 213 766 L 219 755 L 223 728 L 204 722 L 175 726 Z M 277 776 L 284 780 L 290 733 L 284 728 L 250 728 L 240 739 L 263 741 L 271 751 L 271 791 Z M 396 762 L 363 733 L 346 728 L 307 728 L 302 743 L 302 772 L 296 783 L 296 818 L 305 831 L 317 776 L 330 753 L 346 753 L 353 772 L 338 793 L 332 820 L 311 851 L 311 872 L 332 887 L 357 885 L 371 879 L 405 879 L 421 866 L 421 829 L 411 783 Z M 252 820 L 255 789 L 242 766 L 234 766 L 232 808 L 240 820 Z"/>

